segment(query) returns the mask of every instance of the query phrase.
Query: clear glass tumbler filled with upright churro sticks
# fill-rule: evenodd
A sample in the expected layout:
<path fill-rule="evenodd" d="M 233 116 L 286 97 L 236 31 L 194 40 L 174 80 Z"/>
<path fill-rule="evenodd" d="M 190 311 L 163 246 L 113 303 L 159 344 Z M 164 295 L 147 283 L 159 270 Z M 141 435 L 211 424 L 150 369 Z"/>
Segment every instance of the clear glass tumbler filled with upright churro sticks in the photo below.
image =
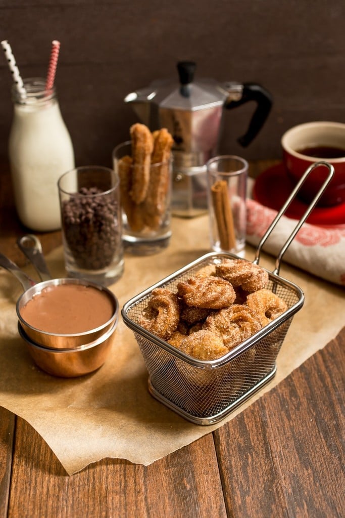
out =
<path fill-rule="evenodd" d="M 171 237 L 173 139 L 165 128 L 151 133 L 140 123 L 130 127 L 130 137 L 113 151 L 120 181 L 123 240 L 129 253 L 154 254 L 166 248 Z"/>

